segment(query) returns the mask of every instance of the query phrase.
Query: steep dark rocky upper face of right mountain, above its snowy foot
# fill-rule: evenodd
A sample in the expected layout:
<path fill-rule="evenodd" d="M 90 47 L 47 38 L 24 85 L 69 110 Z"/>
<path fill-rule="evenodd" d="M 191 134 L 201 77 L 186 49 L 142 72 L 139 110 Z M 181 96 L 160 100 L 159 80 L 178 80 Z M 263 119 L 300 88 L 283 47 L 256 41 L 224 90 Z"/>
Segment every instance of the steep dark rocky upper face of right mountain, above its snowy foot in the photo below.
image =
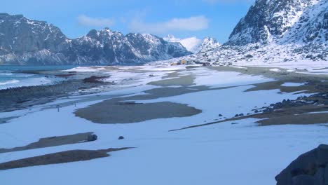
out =
<path fill-rule="evenodd" d="M 233 29 L 228 45 L 324 43 L 327 18 L 325 0 L 257 0 Z"/>

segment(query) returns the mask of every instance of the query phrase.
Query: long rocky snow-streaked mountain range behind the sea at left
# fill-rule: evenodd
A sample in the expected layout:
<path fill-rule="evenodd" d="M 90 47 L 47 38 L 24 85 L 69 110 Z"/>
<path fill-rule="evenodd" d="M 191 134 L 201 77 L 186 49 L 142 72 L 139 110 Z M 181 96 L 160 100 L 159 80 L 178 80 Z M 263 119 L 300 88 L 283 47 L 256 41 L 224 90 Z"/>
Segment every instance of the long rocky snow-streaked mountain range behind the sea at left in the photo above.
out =
<path fill-rule="evenodd" d="M 180 43 L 108 28 L 68 39 L 59 28 L 0 14 L 0 64 L 140 64 L 191 54 Z"/>

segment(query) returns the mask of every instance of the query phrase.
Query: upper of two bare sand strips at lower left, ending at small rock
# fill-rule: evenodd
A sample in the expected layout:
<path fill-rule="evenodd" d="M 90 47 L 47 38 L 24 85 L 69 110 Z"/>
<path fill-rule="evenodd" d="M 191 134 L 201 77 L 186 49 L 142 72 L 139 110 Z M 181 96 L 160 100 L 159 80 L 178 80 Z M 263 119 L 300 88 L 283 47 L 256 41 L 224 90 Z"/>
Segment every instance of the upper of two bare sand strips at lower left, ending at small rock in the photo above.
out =
<path fill-rule="evenodd" d="M 58 137 L 46 137 L 39 139 L 38 142 L 28 144 L 27 146 L 15 147 L 13 149 L 0 149 L 0 153 L 7 153 L 12 151 L 24 151 L 30 149 L 41 149 L 51 146 L 60 146 L 65 144 L 76 144 L 79 142 L 88 142 L 88 137 L 91 136 L 93 132 L 86 132 L 76 135 L 64 135 Z"/>

